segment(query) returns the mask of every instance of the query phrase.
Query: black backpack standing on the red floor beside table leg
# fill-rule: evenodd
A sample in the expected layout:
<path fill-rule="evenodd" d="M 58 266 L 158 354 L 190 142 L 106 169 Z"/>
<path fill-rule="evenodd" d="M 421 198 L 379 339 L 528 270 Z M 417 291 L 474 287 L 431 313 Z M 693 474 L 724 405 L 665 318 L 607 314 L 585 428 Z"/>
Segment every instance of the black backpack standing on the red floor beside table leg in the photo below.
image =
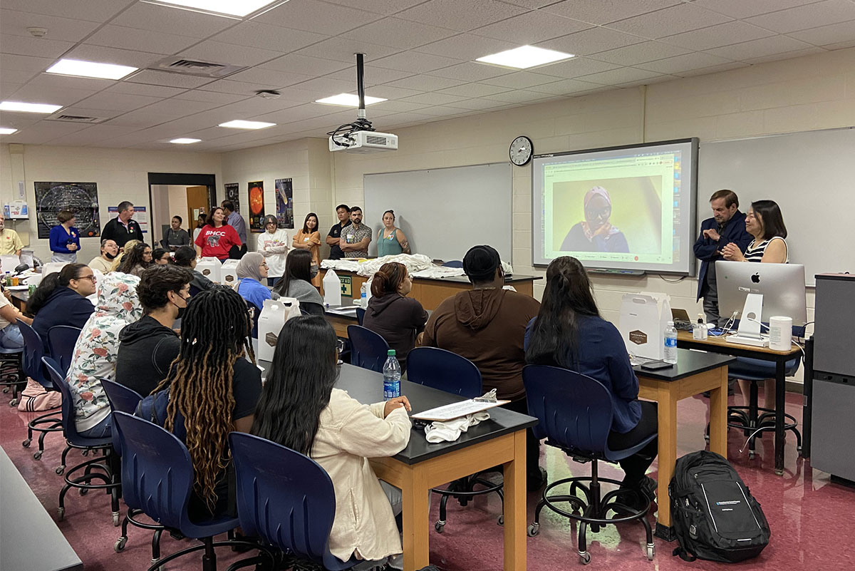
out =
<path fill-rule="evenodd" d="M 671 521 L 685 561 L 739 562 L 769 544 L 760 503 L 726 458 L 700 450 L 677 460 L 668 486 Z"/>

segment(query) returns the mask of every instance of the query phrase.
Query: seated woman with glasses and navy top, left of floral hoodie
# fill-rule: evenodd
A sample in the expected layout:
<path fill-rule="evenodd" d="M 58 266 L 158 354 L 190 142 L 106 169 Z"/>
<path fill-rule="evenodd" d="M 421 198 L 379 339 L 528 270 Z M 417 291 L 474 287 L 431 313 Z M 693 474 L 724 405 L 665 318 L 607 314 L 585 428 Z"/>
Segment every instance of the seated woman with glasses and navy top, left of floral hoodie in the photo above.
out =
<path fill-rule="evenodd" d="M 95 293 L 95 273 L 82 263 L 70 263 L 59 272 L 48 274 L 27 301 L 27 313 L 34 315 L 32 328 L 44 342 L 48 353 L 48 330 L 57 325 L 80 327 L 95 311 L 86 299 Z"/>

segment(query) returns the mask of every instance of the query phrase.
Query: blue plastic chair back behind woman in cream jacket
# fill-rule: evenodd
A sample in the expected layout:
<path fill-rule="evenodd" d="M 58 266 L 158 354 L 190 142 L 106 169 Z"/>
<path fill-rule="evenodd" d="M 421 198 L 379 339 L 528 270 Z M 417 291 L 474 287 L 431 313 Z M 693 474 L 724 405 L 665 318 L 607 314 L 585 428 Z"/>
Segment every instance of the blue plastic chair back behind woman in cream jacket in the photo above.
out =
<path fill-rule="evenodd" d="M 351 568 L 329 552 L 335 518 L 333 480 L 299 452 L 245 433 L 230 433 L 241 530 L 327 571 Z M 263 462 L 259 459 L 263 458 Z M 300 567 L 303 568 L 303 567 Z"/>

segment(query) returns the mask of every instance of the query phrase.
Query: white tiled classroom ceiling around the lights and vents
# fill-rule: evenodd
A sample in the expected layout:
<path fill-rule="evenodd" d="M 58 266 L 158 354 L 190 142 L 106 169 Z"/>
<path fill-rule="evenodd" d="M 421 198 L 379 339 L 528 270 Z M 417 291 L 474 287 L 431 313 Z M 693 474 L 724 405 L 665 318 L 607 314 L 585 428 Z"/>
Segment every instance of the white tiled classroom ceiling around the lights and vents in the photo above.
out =
<path fill-rule="evenodd" d="M 577 56 L 528 71 L 474 61 L 524 44 Z M 356 119 L 313 102 L 356 92 L 357 51 L 367 94 L 388 99 L 369 119 L 394 132 L 852 46 L 855 0 L 290 0 L 243 19 L 144 0 L 0 0 L 0 100 L 100 121 L 3 111 L 0 127 L 19 131 L 0 142 L 222 152 L 324 137 Z M 149 69 L 169 57 L 246 69 Z M 61 58 L 140 70 L 120 81 L 44 73 Z M 276 126 L 217 127 L 236 119 Z M 202 141 L 168 143 L 180 137 Z"/>

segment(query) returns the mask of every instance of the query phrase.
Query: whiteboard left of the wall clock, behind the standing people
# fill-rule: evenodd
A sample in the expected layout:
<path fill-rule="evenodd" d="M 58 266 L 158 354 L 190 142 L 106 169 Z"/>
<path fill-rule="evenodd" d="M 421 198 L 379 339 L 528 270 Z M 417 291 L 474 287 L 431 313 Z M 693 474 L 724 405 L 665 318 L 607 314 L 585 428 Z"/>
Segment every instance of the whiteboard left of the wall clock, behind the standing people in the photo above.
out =
<path fill-rule="evenodd" d="M 363 223 L 374 230 L 369 256 L 377 255 L 377 231 L 391 209 L 413 254 L 463 260 L 472 246 L 489 244 L 510 262 L 510 162 L 366 174 L 363 189 Z"/>

